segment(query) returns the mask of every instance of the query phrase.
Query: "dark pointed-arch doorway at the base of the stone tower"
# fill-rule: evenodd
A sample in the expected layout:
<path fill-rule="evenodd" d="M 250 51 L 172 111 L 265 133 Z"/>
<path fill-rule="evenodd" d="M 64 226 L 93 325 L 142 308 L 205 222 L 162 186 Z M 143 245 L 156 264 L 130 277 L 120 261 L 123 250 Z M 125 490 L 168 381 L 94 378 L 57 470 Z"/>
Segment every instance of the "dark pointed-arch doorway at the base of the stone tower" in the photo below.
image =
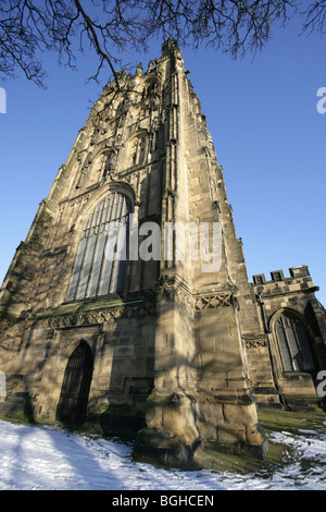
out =
<path fill-rule="evenodd" d="M 68 423 L 85 420 L 93 359 L 89 345 L 82 341 L 67 362 L 57 409 L 57 419 Z"/>

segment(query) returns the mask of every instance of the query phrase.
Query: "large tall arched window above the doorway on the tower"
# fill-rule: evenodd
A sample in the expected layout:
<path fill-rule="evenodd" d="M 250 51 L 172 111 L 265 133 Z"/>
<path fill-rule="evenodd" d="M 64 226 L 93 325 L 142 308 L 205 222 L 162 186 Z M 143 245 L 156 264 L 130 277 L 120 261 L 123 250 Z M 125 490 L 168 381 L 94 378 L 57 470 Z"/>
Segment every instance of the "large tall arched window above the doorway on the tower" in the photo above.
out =
<path fill-rule="evenodd" d="M 130 202 L 120 192 L 92 210 L 79 242 L 67 301 L 123 290 L 129 211 Z"/>

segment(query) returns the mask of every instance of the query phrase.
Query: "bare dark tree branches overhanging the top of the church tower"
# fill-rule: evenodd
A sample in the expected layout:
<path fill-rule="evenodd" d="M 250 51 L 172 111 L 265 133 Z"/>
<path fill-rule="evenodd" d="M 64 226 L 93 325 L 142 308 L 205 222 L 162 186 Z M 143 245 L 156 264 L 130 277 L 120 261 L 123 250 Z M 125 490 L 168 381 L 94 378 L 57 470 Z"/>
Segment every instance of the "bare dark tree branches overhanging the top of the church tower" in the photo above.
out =
<path fill-rule="evenodd" d="M 304 32 L 325 35 L 326 0 L 301 9 L 300 0 L 0 0 L 0 77 L 22 70 L 42 86 L 43 52 L 75 68 L 87 42 L 98 58 L 91 78 L 109 69 L 120 87 L 116 70 L 125 68 L 120 56 L 148 49 L 153 38 L 204 44 L 237 58 L 261 50 L 273 28 L 294 15 Z"/>

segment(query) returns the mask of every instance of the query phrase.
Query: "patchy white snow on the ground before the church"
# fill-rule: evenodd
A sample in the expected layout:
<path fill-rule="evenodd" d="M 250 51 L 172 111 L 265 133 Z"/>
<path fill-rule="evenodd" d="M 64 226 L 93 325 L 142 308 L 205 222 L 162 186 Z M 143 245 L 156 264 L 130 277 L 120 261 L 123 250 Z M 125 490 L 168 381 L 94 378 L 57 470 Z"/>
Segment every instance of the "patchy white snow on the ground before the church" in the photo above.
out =
<path fill-rule="evenodd" d="M 134 462 L 115 439 L 0 420 L 0 490 L 326 490 L 326 422 L 272 440 L 294 450 L 272 473 L 183 472 Z"/>

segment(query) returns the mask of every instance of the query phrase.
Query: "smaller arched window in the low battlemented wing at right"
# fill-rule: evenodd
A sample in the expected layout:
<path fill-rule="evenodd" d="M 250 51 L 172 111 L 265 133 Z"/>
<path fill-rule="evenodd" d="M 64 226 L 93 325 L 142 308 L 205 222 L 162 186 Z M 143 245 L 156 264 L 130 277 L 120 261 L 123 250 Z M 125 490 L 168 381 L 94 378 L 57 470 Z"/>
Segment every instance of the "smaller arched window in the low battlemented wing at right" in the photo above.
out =
<path fill-rule="evenodd" d="M 302 320 L 284 310 L 275 322 L 275 334 L 285 371 L 312 371 L 313 356 Z"/>

